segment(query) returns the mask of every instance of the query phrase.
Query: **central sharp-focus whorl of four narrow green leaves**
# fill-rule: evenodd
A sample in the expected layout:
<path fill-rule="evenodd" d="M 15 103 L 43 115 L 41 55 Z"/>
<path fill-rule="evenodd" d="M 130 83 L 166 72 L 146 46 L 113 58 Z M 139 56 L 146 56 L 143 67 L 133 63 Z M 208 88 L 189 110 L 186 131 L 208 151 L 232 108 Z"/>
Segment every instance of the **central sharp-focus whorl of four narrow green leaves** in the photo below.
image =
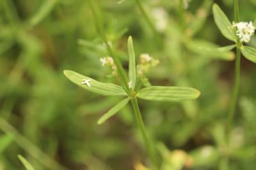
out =
<path fill-rule="evenodd" d="M 116 84 L 104 83 L 95 81 L 94 79 L 81 75 L 79 73 L 65 70 L 64 74 L 66 77 L 81 86 L 88 91 L 94 93 L 99 93 L 101 95 L 112 95 L 112 96 L 126 96 L 124 100 L 119 102 L 115 107 L 110 109 L 106 114 L 104 114 L 98 121 L 98 124 L 104 123 L 104 121 L 114 116 L 116 112 L 120 111 L 131 98 L 142 98 L 145 100 L 155 100 L 155 101 L 169 101 L 169 102 L 182 102 L 186 100 L 193 100 L 200 96 L 200 91 L 194 88 L 186 87 L 171 87 L 171 86 L 151 86 L 148 88 L 143 88 L 138 91 L 133 91 L 136 85 L 136 57 L 134 54 L 132 37 L 128 38 L 128 54 L 129 54 L 129 81 L 131 82 L 132 93 L 126 92 L 122 86 Z M 83 80 L 90 80 L 90 86 L 88 84 L 83 84 Z M 132 95 L 131 95 L 132 94 Z"/>

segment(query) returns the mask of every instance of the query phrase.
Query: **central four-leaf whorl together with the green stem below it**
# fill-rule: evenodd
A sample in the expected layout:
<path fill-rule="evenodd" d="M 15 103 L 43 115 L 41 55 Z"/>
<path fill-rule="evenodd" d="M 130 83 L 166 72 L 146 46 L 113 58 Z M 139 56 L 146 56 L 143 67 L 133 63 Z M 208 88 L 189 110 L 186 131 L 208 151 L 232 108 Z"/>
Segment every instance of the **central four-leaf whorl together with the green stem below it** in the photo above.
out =
<path fill-rule="evenodd" d="M 110 48 L 110 47 L 109 47 Z M 134 114 L 136 121 L 138 123 L 138 127 L 141 130 L 141 134 L 143 135 L 143 139 L 147 146 L 148 153 L 150 154 L 150 158 L 156 167 L 159 167 L 159 162 L 157 162 L 156 153 L 154 151 L 152 141 L 147 135 L 145 125 L 143 123 L 143 119 L 141 117 L 140 108 L 138 105 L 137 98 L 143 98 L 145 100 L 153 100 L 153 101 L 170 101 L 170 102 L 182 102 L 186 100 L 192 100 L 198 98 L 200 92 L 193 88 L 183 88 L 183 87 L 171 87 L 171 86 L 150 86 L 147 88 L 142 88 L 134 91 L 136 88 L 136 63 L 135 63 L 135 54 L 132 45 L 131 36 L 128 39 L 128 53 L 129 53 L 129 82 L 127 83 L 129 89 L 126 89 L 125 86 L 118 86 L 116 84 L 103 83 L 95 81 L 90 77 L 86 77 L 79 73 L 65 70 L 64 73 L 66 77 L 81 86 L 84 89 L 92 91 L 94 93 L 99 93 L 101 95 L 113 95 L 113 96 L 126 96 L 124 100 L 119 102 L 115 107 L 109 110 L 106 114 L 104 114 L 98 121 L 99 124 L 104 123 L 104 121 L 108 120 L 111 116 L 115 115 L 122 107 L 124 107 L 129 100 L 131 100 L 132 107 L 134 109 Z M 115 59 L 118 61 L 118 59 Z M 122 69 L 124 72 L 124 68 L 118 67 L 116 75 L 118 79 L 121 79 L 122 82 L 125 82 L 122 76 L 120 76 L 120 70 Z"/>

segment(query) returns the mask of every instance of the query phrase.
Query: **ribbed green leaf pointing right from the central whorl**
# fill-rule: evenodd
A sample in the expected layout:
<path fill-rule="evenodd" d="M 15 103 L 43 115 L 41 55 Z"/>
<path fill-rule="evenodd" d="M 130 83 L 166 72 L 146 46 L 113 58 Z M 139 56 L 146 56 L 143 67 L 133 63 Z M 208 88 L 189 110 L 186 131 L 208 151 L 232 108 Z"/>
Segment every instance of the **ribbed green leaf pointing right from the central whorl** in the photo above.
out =
<path fill-rule="evenodd" d="M 145 100 L 182 102 L 198 98 L 200 91 L 194 88 L 170 87 L 170 86 L 151 86 L 140 89 L 137 93 L 138 98 Z"/>

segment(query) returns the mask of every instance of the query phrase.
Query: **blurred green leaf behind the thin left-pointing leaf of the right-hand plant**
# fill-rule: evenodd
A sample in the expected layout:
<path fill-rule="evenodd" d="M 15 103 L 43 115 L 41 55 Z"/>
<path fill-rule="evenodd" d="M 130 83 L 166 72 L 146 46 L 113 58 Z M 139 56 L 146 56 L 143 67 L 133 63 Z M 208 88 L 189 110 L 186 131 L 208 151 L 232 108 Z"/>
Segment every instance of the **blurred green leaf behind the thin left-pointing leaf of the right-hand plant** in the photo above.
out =
<path fill-rule="evenodd" d="M 200 54 L 202 56 L 208 56 L 211 58 L 218 58 L 218 59 L 225 59 L 227 61 L 231 61 L 231 60 L 235 59 L 235 54 L 232 51 L 216 53 L 216 52 L 209 52 L 207 50 L 202 50 L 202 49 L 198 48 L 198 47 L 202 47 L 204 49 L 220 48 L 220 46 L 218 46 L 212 42 L 205 41 L 205 40 L 191 40 L 186 43 L 186 47 L 188 47 L 188 49 L 191 50 L 192 52 L 195 52 L 196 54 Z"/>

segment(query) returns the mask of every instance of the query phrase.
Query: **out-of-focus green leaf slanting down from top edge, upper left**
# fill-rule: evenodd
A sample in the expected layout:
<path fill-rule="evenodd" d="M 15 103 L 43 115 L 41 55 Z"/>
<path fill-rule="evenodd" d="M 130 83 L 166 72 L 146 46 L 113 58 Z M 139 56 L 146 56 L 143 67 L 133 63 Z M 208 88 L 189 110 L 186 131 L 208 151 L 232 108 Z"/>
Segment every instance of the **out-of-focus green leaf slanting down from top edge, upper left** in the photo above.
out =
<path fill-rule="evenodd" d="M 40 9 L 38 12 L 35 13 L 35 15 L 32 16 L 29 24 L 30 26 L 35 26 L 38 24 L 41 20 L 43 20 L 54 8 L 54 5 L 57 3 L 57 0 L 46 0 L 44 3 L 40 6 Z"/>

